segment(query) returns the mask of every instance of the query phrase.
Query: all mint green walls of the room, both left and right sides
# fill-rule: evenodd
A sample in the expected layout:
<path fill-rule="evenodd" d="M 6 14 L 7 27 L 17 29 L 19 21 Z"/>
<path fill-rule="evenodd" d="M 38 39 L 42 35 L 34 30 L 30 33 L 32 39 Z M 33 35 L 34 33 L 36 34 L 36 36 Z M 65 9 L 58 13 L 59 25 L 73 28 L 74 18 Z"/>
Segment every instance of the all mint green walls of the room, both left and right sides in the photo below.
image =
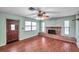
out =
<path fill-rule="evenodd" d="M 75 19 L 75 16 L 68 16 L 68 17 L 62 17 L 59 19 L 52 18 L 50 20 L 45 20 L 45 21 L 36 21 L 34 19 L 26 18 L 23 16 L 17 16 L 13 14 L 7 14 L 7 13 L 0 13 L 0 46 L 6 45 L 6 19 L 14 19 L 14 20 L 20 20 L 19 23 L 19 39 L 25 39 L 29 38 L 32 36 L 35 36 L 38 34 L 38 32 L 41 32 L 41 23 L 45 22 L 45 26 L 61 26 L 62 27 L 62 32 L 61 34 L 64 35 L 64 20 L 69 20 L 70 21 L 70 37 L 75 37 L 77 38 L 77 44 L 79 45 L 79 21 L 72 21 Z M 24 21 L 36 21 L 37 22 L 37 30 L 36 31 L 29 31 L 26 32 L 24 31 Z"/>

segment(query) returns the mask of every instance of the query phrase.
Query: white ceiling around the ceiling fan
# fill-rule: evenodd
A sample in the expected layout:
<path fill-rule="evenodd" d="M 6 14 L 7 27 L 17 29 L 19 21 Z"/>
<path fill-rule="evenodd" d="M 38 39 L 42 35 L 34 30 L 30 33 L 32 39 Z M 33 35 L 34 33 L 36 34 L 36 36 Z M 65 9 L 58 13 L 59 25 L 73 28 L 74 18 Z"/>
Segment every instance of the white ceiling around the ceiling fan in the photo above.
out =
<path fill-rule="evenodd" d="M 0 7 L 0 12 L 6 12 L 19 16 L 37 17 L 37 11 L 28 10 L 29 7 Z M 40 7 L 43 11 L 51 11 L 57 13 L 47 13 L 51 17 L 63 17 L 77 14 L 79 7 Z M 34 15 L 33 15 L 34 14 Z"/>

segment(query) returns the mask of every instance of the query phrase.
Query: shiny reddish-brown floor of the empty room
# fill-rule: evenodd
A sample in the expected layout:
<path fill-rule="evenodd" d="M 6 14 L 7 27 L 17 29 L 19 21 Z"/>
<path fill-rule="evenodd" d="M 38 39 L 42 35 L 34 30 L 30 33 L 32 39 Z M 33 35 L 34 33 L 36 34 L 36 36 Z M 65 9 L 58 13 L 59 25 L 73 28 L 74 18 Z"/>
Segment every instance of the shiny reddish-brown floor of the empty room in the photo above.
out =
<path fill-rule="evenodd" d="M 76 52 L 75 43 L 35 36 L 0 47 L 0 52 Z"/>

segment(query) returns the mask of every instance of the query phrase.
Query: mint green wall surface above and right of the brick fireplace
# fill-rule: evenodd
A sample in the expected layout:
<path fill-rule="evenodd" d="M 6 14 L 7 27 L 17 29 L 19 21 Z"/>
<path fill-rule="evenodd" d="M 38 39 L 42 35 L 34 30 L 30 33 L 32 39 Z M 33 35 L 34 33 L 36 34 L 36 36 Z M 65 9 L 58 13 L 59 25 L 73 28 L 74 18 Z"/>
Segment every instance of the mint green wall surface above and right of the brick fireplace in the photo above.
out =
<path fill-rule="evenodd" d="M 45 20 L 43 22 L 45 22 L 45 26 L 61 26 L 61 35 L 64 35 L 64 21 L 65 20 L 69 20 L 70 21 L 70 34 L 68 36 L 70 37 L 75 37 L 75 26 L 76 26 L 76 21 L 72 21 L 75 19 L 75 16 L 67 16 L 67 17 L 62 17 L 62 18 L 52 18 L 50 20 Z"/>

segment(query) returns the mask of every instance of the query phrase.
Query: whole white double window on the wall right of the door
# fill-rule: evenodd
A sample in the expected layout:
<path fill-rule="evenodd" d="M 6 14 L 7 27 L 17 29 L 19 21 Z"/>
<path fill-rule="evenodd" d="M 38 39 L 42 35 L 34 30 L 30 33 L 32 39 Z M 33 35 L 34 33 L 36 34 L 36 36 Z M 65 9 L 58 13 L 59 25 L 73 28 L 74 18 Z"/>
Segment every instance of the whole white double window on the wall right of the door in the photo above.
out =
<path fill-rule="evenodd" d="M 36 30 L 36 22 L 25 21 L 25 31 Z"/>

